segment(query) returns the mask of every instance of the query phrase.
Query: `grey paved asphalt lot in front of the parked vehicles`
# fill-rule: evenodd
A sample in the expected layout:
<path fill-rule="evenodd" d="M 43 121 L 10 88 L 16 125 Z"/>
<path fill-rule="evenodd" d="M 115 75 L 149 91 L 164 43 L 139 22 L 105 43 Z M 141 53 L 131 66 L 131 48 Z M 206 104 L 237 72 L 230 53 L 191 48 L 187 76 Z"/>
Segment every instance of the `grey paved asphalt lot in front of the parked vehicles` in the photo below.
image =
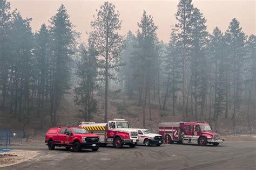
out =
<path fill-rule="evenodd" d="M 100 147 L 97 152 L 75 153 L 63 147 L 50 151 L 46 145 L 12 146 L 39 154 L 2 169 L 256 169 L 256 143 L 234 142 L 220 146 L 169 144 L 157 146 Z"/>

